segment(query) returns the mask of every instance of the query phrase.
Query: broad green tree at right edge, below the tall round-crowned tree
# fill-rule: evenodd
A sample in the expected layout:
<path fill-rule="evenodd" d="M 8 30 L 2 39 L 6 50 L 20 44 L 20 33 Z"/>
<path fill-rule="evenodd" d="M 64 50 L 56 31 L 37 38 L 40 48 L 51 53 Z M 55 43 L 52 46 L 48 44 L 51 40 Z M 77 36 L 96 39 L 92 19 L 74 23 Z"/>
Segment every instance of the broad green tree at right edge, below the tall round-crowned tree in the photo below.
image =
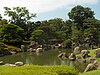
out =
<path fill-rule="evenodd" d="M 88 18 L 84 20 L 84 36 L 87 39 L 87 41 L 90 41 L 90 44 L 97 44 L 98 39 L 100 38 L 100 23 L 97 19 Z"/>

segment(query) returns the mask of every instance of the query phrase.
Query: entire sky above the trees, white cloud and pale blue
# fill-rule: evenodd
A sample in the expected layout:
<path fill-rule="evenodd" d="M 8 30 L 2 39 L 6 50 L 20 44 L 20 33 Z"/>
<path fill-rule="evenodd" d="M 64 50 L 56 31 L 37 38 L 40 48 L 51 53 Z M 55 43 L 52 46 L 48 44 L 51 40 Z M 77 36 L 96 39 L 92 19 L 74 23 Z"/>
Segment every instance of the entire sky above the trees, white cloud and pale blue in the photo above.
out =
<path fill-rule="evenodd" d="M 0 14 L 4 14 L 3 7 L 19 6 L 26 7 L 31 13 L 37 13 L 34 20 L 68 19 L 67 13 L 76 5 L 90 7 L 96 18 L 100 19 L 100 0 L 0 0 Z"/>

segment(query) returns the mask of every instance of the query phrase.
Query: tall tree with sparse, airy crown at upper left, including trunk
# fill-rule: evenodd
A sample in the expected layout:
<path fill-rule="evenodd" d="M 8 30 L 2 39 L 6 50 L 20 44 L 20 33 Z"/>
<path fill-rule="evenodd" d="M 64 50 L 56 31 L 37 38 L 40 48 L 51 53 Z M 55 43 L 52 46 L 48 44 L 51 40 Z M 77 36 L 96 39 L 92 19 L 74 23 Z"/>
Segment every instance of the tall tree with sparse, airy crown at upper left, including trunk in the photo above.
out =
<path fill-rule="evenodd" d="M 9 7 L 4 7 L 5 9 L 5 15 L 10 17 L 10 23 L 20 26 L 24 29 L 25 39 L 27 40 L 29 38 L 28 31 L 29 27 L 29 21 L 36 17 L 36 14 L 29 13 L 29 11 L 26 9 L 26 7 L 13 7 L 12 9 Z"/>

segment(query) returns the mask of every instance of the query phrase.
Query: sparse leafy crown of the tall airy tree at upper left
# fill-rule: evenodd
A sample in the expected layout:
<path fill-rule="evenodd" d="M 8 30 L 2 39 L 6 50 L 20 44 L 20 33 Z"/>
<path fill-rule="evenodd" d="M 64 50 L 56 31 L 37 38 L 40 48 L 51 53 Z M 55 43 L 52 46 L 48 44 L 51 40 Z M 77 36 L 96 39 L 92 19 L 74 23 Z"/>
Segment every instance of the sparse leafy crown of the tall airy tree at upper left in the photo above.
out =
<path fill-rule="evenodd" d="M 16 25 L 26 23 L 28 20 L 36 16 L 36 14 L 30 14 L 26 7 L 13 7 L 12 9 L 9 7 L 4 7 L 4 9 L 5 15 L 10 17 L 10 21 Z"/>

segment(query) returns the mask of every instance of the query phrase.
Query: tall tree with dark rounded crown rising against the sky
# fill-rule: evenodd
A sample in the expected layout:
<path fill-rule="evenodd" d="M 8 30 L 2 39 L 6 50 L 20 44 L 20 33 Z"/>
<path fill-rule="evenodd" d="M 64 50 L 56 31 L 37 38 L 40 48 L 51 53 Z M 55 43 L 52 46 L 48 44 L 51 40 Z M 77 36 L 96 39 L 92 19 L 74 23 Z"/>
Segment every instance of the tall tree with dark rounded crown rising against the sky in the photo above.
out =
<path fill-rule="evenodd" d="M 94 12 L 88 7 L 82 7 L 80 5 L 75 6 L 72 10 L 68 13 L 69 18 L 77 23 L 78 29 L 83 29 L 83 22 L 87 18 L 94 18 Z"/>

